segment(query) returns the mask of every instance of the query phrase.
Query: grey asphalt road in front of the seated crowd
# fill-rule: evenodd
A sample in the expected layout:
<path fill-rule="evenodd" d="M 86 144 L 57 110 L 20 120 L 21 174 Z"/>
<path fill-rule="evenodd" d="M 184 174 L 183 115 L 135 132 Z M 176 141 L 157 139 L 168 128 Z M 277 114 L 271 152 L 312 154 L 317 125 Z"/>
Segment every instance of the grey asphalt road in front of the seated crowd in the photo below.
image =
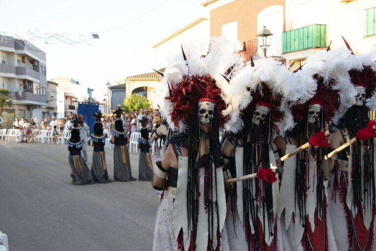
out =
<path fill-rule="evenodd" d="M 112 179 L 112 149 L 106 159 Z M 138 153 L 131 163 L 137 178 Z M 150 182 L 74 186 L 69 174 L 65 145 L 0 141 L 0 231 L 10 251 L 152 249 L 159 197 Z"/>

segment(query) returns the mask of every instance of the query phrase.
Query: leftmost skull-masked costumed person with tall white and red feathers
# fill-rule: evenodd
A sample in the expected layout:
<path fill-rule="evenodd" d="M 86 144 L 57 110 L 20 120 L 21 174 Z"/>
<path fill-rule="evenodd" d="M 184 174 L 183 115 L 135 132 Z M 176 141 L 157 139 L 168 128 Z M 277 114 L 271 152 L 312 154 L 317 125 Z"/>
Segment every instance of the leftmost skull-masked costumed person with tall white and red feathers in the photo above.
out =
<path fill-rule="evenodd" d="M 167 150 L 171 145 L 175 152 L 178 168 L 157 162 L 155 177 L 167 180 L 153 251 L 228 250 L 223 228 L 224 161 L 218 139 L 218 128 L 228 117 L 222 113 L 226 105 L 216 77 L 223 78 L 219 74 L 234 63 L 225 60 L 233 53 L 223 37 L 213 38 L 205 58 L 195 48 L 184 47 L 183 56 L 178 55 L 174 65 L 166 68 L 162 80 L 161 112 L 171 128 L 182 132 L 166 142 Z M 188 156 L 182 155 L 182 149 L 188 149 Z"/>

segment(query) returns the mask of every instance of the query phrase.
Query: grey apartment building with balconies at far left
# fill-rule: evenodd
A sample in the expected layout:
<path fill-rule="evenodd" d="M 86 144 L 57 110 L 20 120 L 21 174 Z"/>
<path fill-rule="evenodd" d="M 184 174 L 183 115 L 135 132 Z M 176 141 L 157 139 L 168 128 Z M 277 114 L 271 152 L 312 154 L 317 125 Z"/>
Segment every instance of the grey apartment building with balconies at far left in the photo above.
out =
<path fill-rule="evenodd" d="M 51 96 L 46 78 L 46 53 L 27 40 L 1 36 L 0 87 L 10 90 L 13 106 L 5 107 L 2 118 L 52 117 L 54 109 L 47 109 Z M 50 104 L 52 106 L 53 104 Z"/>

